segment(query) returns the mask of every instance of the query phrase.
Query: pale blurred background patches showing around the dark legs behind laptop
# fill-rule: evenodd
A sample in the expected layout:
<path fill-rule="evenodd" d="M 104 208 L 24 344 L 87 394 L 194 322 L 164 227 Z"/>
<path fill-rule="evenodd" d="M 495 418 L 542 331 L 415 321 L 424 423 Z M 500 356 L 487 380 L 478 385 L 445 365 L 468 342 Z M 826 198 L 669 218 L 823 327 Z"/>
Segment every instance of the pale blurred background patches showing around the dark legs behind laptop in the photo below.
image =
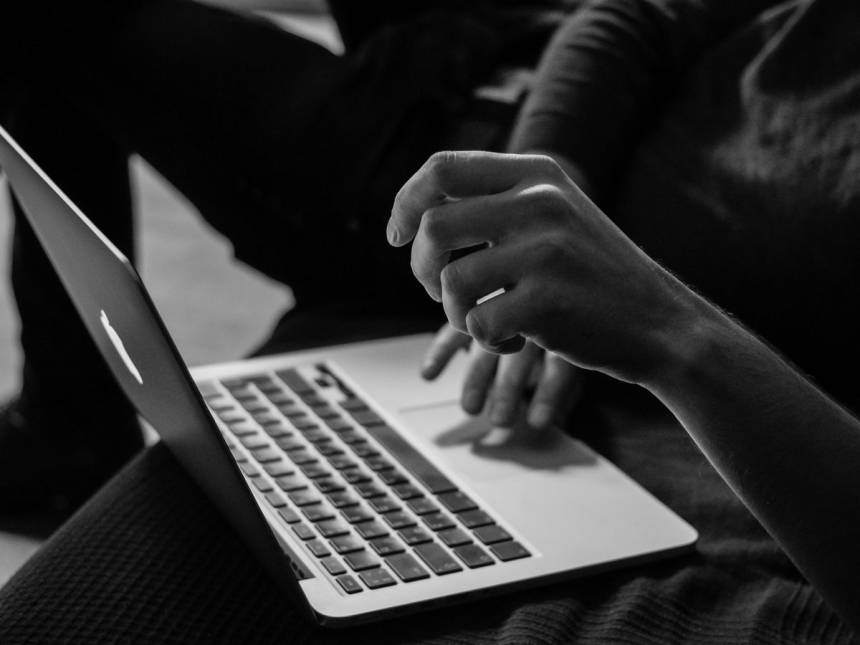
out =
<path fill-rule="evenodd" d="M 295 33 L 341 50 L 322 0 L 218 0 L 259 11 Z M 237 264 L 227 243 L 143 160 L 132 159 L 140 271 L 179 351 L 191 365 L 243 356 L 292 305 L 289 289 Z M 17 315 L 9 286 L 12 217 L 0 176 L 0 400 L 18 390 Z M 40 521 L 0 521 L 0 586 L 39 547 Z"/>

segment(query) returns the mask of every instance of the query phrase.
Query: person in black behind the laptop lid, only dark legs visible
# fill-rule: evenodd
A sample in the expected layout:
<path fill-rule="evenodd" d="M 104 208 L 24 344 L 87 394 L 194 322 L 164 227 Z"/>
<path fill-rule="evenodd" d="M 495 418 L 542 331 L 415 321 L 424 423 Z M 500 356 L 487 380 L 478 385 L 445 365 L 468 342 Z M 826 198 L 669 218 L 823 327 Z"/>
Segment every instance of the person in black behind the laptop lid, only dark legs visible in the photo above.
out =
<path fill-rule="evenodd" d="M 514 108 L 480 114 L 472 91 L 531 64 L 552 29 L 543 3 L 449 5 L 332 2 L 347 48 L 336 56 L 196 2 L 13 3 L 0 118 L 132 259 L 137 152 L 300 308 L 403 291 L 404 307 L 427 311 L 368 223 L 464 122 L 483 122 L 477 138 L 465 128 L 473 145 L 503 145 Z M 0 411 L 0 511 L 71 509 L 139 449 L 140 430 L 13 206 L 24 361 L 21 394 Z"/>

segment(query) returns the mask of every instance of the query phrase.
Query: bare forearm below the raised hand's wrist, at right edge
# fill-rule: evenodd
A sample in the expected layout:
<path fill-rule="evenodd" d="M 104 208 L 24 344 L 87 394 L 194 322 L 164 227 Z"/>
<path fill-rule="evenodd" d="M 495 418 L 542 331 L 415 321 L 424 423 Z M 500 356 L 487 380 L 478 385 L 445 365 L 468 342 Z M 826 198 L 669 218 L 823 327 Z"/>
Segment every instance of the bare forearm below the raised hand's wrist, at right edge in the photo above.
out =
<path fill-rule="evenodd" d="M 643 380 L 821 594 L 860 627 L 860 422 L 692 297 Z"/>

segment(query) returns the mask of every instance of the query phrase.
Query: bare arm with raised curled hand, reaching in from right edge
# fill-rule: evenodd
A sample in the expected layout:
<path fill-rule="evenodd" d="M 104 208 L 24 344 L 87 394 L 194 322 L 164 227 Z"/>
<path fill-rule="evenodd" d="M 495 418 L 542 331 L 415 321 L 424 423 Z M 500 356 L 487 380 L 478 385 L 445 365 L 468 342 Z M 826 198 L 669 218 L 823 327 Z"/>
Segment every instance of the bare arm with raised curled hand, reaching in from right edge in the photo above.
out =
<path fill-rule="evenodd" d="M 416 277 L 486 349 L 527 338 L 653 392 L 860 628 L 857 419 L 648 257 L 547 157 L 431 158 L 389 223 L 393 244 L 413 239 Z M 479 241 L 488 248 L 448 262 Z"/>

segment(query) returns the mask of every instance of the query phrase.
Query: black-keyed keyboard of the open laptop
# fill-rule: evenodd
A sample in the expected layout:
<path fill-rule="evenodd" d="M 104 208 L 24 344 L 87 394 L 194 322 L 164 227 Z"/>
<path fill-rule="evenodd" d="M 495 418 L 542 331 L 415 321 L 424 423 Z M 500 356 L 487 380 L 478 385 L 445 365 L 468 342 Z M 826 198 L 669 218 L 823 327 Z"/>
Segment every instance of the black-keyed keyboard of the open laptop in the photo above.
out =
<path fill-rule="evenodd" d="M 198 386 L 245 477 L 344 592 L 531 555 L 327 366 L 307 371 Z"/>

